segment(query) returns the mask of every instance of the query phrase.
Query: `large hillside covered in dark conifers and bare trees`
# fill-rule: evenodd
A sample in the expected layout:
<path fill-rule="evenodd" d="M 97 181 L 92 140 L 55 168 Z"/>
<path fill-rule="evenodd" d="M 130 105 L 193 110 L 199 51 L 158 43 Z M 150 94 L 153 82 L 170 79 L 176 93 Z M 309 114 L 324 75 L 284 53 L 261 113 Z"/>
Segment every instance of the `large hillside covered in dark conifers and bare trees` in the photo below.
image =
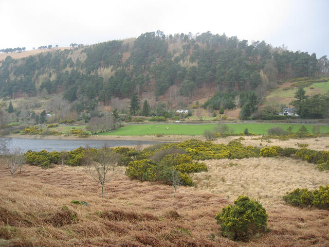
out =
<path fill-rule="evenodd" d="M 17 60 L 8 56 L 0 67 L 0 94 L 16 98 L 63 93 L 63 99 L 75 102 L 75 110 L 82 112 L 135 93 L 140 100 L 143 92 L 193 97 L 207 87 L 217 92 L 217 99 L 218 94 L 230 99 L 208 102 L 213 109 L 249 102 L 248 115 L 255 110 L 250 102 L 258 104 L 281 80 L 328 73 L 328 66 L 326 57 L 318 60 L 315 54 L 264 41 L 249 45 L 209 31 L 197 36 L 157 31 Z"/>

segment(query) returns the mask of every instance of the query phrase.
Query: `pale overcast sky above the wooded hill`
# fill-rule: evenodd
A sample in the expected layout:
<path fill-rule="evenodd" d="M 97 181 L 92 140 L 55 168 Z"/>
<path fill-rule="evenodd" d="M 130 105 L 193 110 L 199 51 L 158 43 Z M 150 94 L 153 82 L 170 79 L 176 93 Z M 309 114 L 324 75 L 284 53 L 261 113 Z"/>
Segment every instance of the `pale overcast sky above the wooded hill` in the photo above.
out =
<path fill-rule="evenodd" d="M 0 0 L 0 49 L 211 31 L 329 56 L 329 0 Z"/>

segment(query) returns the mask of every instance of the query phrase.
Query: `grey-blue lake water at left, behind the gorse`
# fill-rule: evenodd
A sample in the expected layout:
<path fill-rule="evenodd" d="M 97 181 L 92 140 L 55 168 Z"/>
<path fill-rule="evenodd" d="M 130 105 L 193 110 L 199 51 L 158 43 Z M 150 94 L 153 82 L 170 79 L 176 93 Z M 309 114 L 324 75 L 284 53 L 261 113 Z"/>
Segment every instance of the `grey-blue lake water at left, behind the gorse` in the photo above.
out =
<path fill-rule="evenodd" d="M 51 140 L 51 139 L 23 139 L 23 138 L 12 138 L 8 143 L 8 148 L 12 151 L 15 148 L 20 148 L 26 152 L 28 150 L 41 151 L 47 150 L 52 151 L 70 151 L 77 149 L 80 146 L 90 148 L 101 148 L 104 145 L 107 147 L 118 147 L 118 146 L 136 146 L 136 145 L 150 145 L 159 142 L 155 141 L 143 141 L 143 140 Z"/>

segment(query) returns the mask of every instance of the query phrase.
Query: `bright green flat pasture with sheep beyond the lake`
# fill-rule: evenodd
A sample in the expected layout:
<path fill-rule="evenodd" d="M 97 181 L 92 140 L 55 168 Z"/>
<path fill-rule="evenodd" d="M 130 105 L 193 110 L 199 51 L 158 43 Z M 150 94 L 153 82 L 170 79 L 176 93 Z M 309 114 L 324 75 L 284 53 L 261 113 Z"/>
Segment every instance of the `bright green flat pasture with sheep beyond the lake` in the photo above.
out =
<path fill-rule="evenodd" d="M 105 132 L 100 135 L 203 135 L 205 130 L 212 130 L 216 124 L 205 125 L 184 125 L 184 124 L 151 124 L 151 125 L 127 125 L 121 127 L 114 132 Z M 266 135 L 267 130 L 272 127 L 281 127 L 286 130 L 289 126 L 293 126 L 293 132 L 298 131 L 302 125 L 290 125 L 287 123 L 227 123 L 230 132 L 234 134 L 243 133 L 247 128 L 249 133 Z M 313 125 L 304 125 L 310 133 L 312 133 Z M 166 127 L 168 127 L 166 129 Z M 329 132 L 329 126 L 320 126 L 320 132 Z"/>

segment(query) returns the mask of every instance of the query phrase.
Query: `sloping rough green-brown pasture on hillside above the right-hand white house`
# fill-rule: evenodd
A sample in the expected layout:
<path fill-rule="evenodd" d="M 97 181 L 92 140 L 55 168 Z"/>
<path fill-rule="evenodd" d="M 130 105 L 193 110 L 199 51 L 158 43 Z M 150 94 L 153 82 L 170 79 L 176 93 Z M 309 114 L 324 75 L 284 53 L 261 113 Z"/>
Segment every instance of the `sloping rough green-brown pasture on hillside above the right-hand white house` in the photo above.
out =
<path fill-rule="evenodd" d="M 266 97 L 264 105 L 272 105 L 277 103 L 289 104 L 291 100 L 295 100 L 294 96 L 297 89 L 297 87 L 294 87 L 294 89 L 289 90 L 283 90 L 283 88 L 273 90 Z M 304 90 L 308 96 L 326 93 L 329 91 L 329 81 L 313 83 L 312 85 L 305 87 Z"/>

